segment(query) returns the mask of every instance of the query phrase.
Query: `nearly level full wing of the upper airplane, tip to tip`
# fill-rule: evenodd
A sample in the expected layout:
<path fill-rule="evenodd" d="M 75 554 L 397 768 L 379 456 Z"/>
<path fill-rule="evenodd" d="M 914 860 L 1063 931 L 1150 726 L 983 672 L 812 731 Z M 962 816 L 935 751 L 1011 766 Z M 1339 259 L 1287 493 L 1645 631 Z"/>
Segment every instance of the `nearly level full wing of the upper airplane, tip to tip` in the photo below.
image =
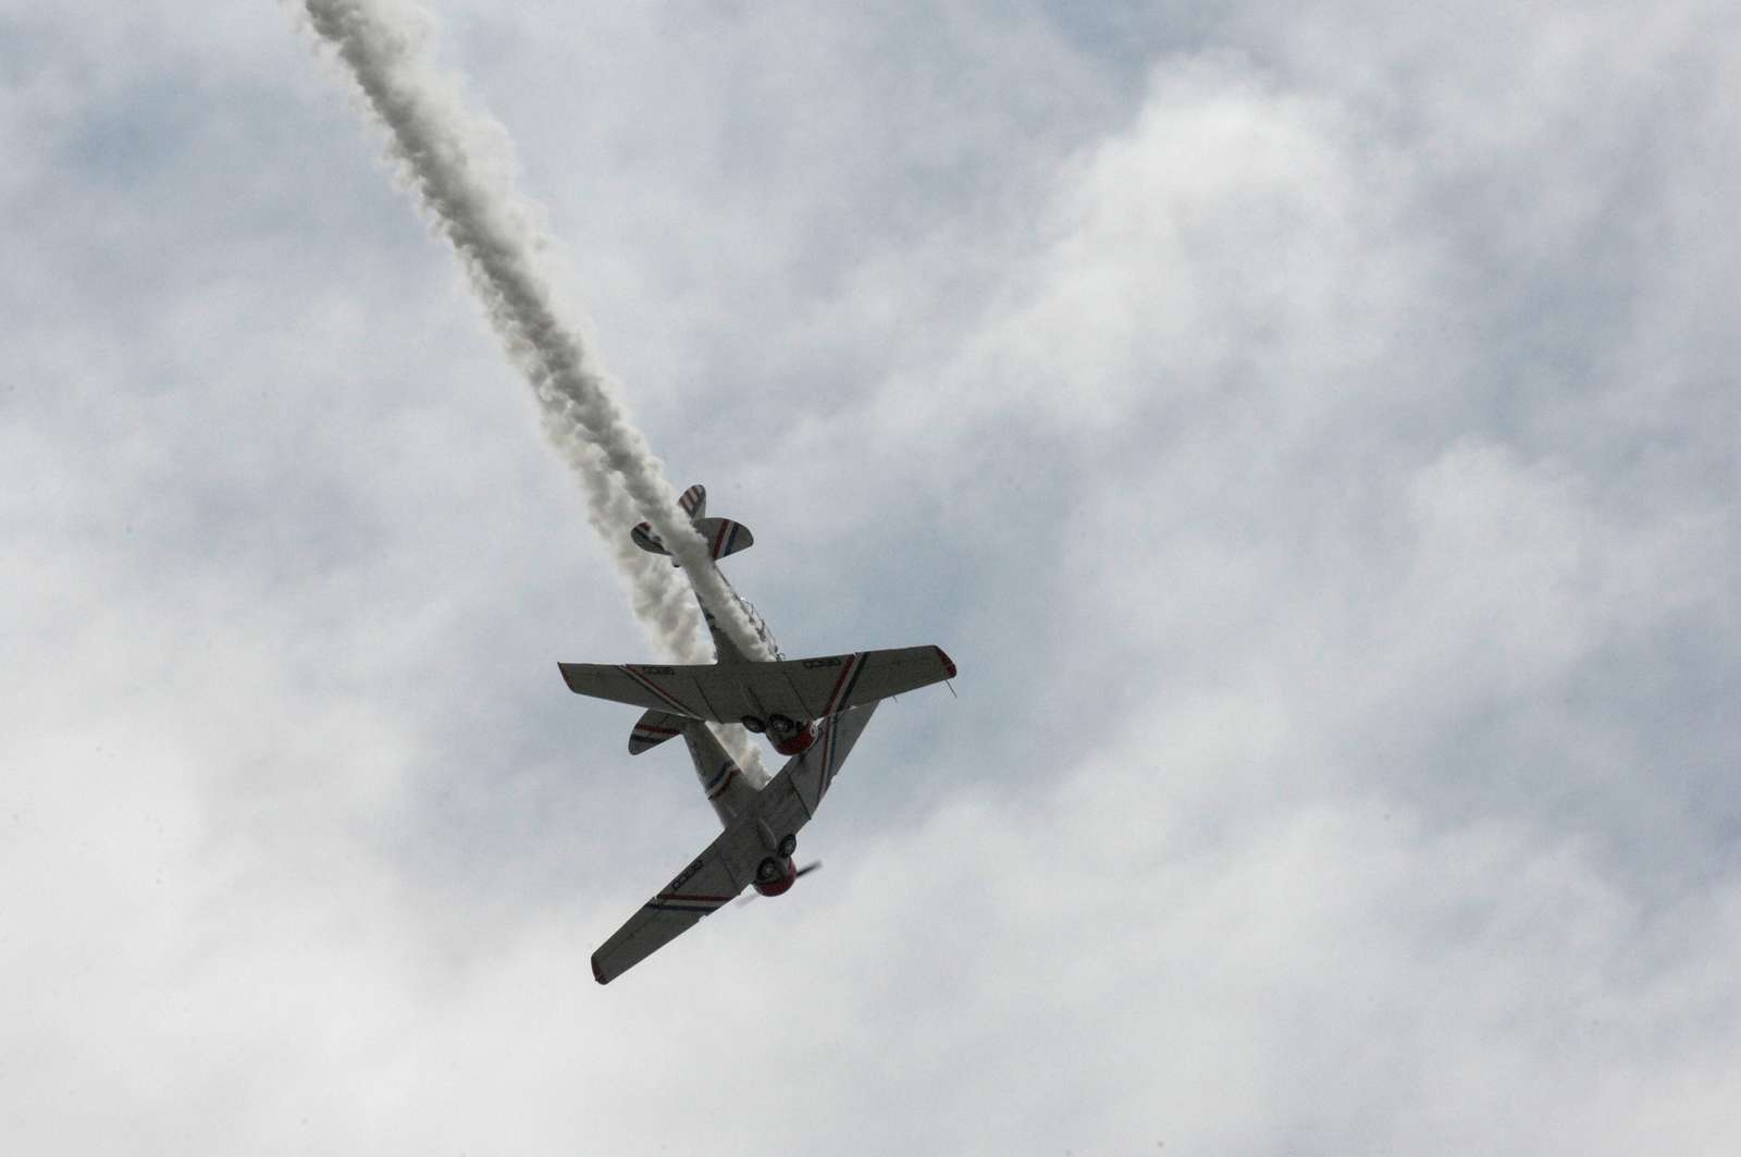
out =
<path fill-rule="evenodd" d="M 738 723 L 745 716 L 766 721 L 771 714 L 822 720 L 848 707 L 942 683 L 956 674 L 956 664 L 940 646 L 902 646 L 742 666 L 597 662 L 557 666 L 568 688 L 576 695 L 714 723 Z"/>

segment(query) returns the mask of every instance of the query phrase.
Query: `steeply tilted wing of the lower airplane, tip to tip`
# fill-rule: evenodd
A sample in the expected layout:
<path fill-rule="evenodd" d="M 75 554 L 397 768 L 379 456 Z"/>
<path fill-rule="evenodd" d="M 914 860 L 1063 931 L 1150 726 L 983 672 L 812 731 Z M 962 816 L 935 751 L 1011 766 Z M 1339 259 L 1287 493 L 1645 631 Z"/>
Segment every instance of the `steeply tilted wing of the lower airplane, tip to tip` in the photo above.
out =
<path fill-rule="evenodd" d="M 768 856 L 764 831 L 796 835 L 810 822 L 872 711 L 876 704 L 827 720 L 818 728 L 817 742 L 787 760 L 757 793 L 754 810 L 719 833 L 695 863 L 592 953 L 592 978 L 609 984 L 742 892 L 756 876 L 756 864 Z"/>

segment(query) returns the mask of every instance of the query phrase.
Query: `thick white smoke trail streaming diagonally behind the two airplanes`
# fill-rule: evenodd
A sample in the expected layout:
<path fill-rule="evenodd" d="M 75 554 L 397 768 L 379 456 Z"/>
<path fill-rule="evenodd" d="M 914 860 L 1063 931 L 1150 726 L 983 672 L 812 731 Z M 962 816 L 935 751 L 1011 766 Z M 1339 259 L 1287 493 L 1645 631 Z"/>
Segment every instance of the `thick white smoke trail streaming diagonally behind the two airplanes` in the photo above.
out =
<path fill-rule="evenodd" d="M 545 432 L 581 477 L 588 521 L 611 545 L 635 615 L 672 657 L 707 659 L 698 615 L 670 563 L 644 554 L 625 533 L 644 518 L 738 648 L 771 659 L 712 568 L 660 460 L 559 307 L 540 260 L 540 214 L 514 186 L 507 132 L 467 110 L 458 84 L 435 70 L 427 52 L 434 19 L 402 2 L 305 0 L 303 7 L 387 127 L 399 178 L 453 244 L 491 324 L 531 382 Z M 723 739 L 745 772 L 766 777 L 747 735 L 726 728 Z"/>

